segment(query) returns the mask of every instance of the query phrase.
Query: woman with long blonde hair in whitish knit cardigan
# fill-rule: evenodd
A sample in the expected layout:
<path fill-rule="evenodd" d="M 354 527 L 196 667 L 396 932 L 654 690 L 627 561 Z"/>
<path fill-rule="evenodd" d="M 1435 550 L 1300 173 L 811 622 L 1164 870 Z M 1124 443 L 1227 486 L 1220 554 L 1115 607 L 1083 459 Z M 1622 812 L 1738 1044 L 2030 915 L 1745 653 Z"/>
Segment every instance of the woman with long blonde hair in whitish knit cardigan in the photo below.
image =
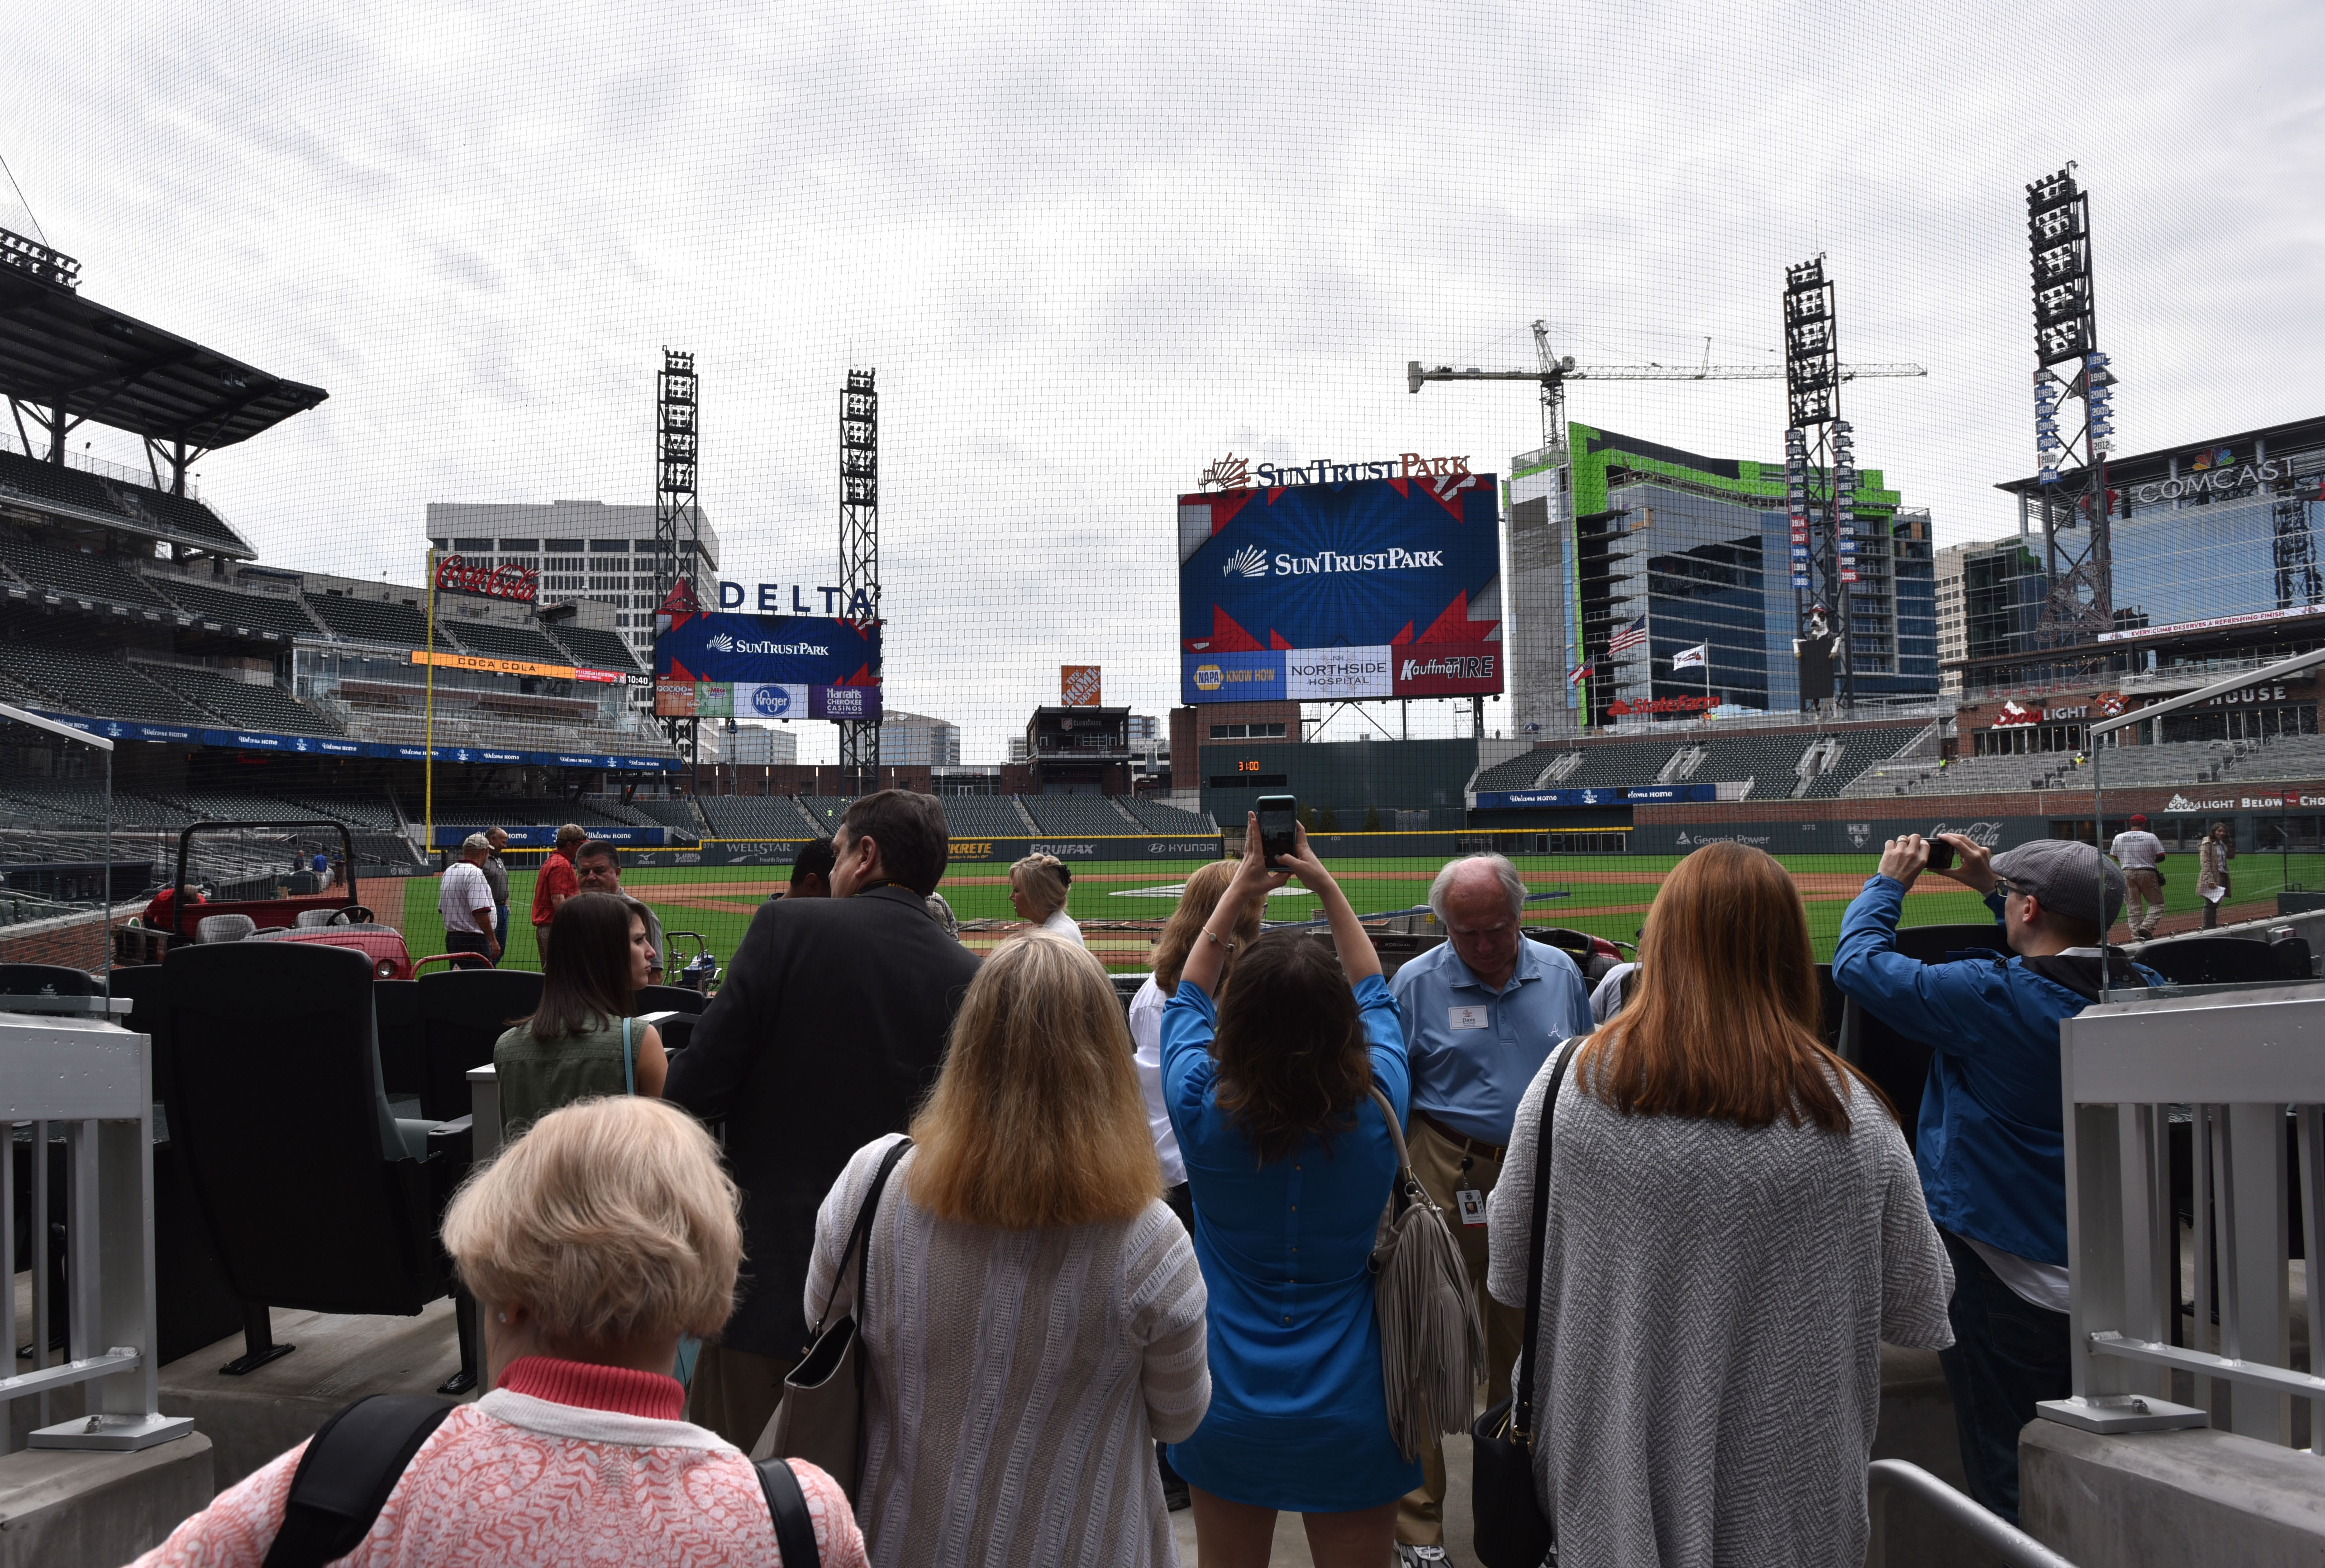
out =
<path fill-rule="evenodd" d="M 816 1214 L 807 1321 L 895 1142 L 858 1149 Z M 1151 1442 L 1211 1403 L 1207 1296 L 1088 952 L 1028 933 L 977 970 L 867 1270 L 856 1517 L 874 1563 L 1176 1561 Z"/>

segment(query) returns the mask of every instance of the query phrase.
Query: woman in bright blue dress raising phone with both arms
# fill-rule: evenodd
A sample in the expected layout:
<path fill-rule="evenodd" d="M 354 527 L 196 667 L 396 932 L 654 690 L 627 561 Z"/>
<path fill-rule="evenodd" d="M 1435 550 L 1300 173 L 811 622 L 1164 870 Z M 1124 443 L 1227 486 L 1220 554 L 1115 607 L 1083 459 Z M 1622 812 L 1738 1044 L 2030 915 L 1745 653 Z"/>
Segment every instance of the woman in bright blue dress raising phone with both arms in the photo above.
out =
<path fill-rule="evenodd" d="M 1404 1117 L 1411 1079 L 1381 958 L 1307 833 L 1276 863 L 1253 817 L 1162 1010 L 1165 1105 L 1211 1293 L 1211 1410 L 1169 1461 L 1204 1568 L 1262 1566 L 1279 1510 L 1307 1517 L 1321 1568 L 1374 1568 L 1421 1463 L 1397 1452 L 1381 1391 L 1367 1261 L 1397 1154 L 1367 1089 Z M 1339 963 L 1304 931 L 1262 935 L 1216 1010 L 1237 921 L 1288 877 L 1323 905 Z"/>

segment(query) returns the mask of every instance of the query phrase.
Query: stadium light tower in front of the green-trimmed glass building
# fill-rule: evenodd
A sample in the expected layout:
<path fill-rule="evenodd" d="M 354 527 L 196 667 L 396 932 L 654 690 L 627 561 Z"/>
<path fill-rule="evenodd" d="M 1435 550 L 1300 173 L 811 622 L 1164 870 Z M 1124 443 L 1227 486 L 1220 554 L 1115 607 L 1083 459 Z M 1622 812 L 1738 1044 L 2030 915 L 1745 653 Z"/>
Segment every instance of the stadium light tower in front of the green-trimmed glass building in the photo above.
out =
<path fill-rule="evenodd" d="M 1841 419 L 1841 354 L 1832 279 L 1816 256 L 1783 270 L 1783 512 L 1790 540 L 1793 614 L 1802 640 L 1820 628 L 1839 637 L 1834 668 L 1841 710 L 1858 696 L 1848 649 L 1848 584 L 1858 579 L 1858 458 Z"/>

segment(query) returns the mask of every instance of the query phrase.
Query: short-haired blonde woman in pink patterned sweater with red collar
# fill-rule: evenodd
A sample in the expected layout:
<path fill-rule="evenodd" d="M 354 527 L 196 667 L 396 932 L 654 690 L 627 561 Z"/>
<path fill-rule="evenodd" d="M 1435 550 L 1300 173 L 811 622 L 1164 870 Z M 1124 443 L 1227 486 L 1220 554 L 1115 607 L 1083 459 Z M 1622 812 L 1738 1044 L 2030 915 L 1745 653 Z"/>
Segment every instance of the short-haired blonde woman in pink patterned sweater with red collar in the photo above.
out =
<path fill-rule="evenodd" d="M 542 1117 L 470 1177 L 444 1247 L 484 1312 L 493 1391 L 421 1445 L 353 1568 L 781 1563 L 758 1475 L 679 1419 L 679 1333 L 735 1305 L 735 1184 L 709 1135 L 660 1100 Z M 228 1487 L 137 1568 L 260 1568 L 300 1454 Z M 795 1463 L 828 1568 L 863 1568 L 846 1494 Z"/>

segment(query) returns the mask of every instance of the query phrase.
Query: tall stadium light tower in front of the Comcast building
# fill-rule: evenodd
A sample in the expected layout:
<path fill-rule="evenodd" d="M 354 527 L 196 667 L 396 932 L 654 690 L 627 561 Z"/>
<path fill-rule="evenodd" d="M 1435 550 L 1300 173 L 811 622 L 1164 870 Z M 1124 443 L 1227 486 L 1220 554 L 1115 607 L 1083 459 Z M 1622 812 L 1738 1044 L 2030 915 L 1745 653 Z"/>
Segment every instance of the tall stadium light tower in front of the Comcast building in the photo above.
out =
<path fill-rule="evenodd" d="M 2072 163 L 2027 186 L 2027 251 L 2034 261 L 2034 456 L 2051 579 L 2034 640 L 2055 649 L 2097 642 L 2116 628 L 2116 549 L 2106 516 L 2116 377 L 2099 354 L 2090 293 L 2090 193 L 2076 188 Z M 2067 398 L 2083 405 L 2083 426 L 2072 435 L 2060 426 Z"/>

